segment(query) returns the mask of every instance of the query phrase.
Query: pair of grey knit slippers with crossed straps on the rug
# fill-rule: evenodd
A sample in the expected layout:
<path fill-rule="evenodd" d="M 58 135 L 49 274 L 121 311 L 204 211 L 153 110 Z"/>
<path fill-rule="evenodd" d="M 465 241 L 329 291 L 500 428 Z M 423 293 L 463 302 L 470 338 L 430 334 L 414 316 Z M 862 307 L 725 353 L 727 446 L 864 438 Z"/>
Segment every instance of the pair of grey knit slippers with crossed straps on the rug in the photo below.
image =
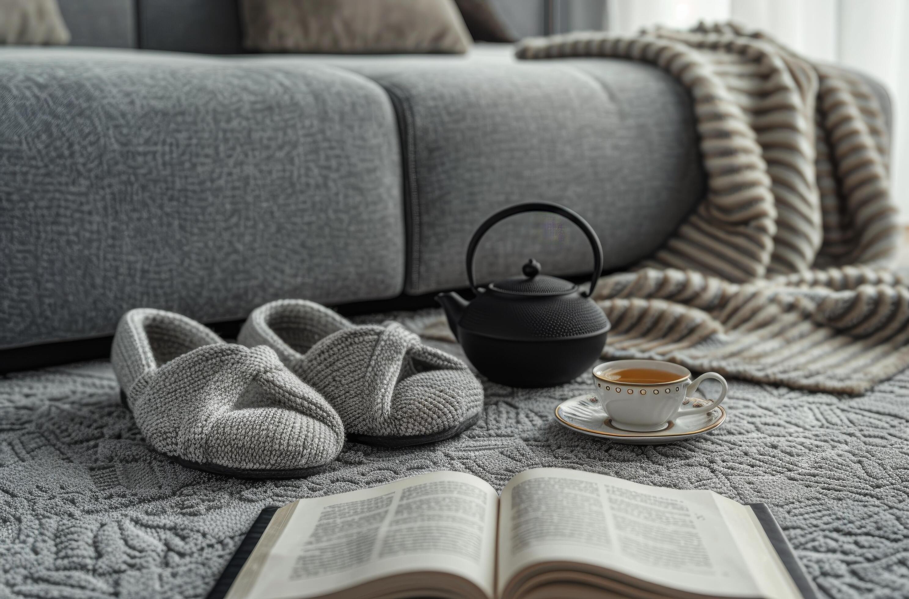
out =
<path fill-rule="evenodd" d="M 280 300 L 257 308 L 237 342 L 164 310 L 124 314 L 111 361 L 156 450 L 219 474 L 299 477 L 331 463 L 345 434 L 424 444 L 480 418 L 474 374 L 401 324 L 355 325 L 323 305 Z"/>

